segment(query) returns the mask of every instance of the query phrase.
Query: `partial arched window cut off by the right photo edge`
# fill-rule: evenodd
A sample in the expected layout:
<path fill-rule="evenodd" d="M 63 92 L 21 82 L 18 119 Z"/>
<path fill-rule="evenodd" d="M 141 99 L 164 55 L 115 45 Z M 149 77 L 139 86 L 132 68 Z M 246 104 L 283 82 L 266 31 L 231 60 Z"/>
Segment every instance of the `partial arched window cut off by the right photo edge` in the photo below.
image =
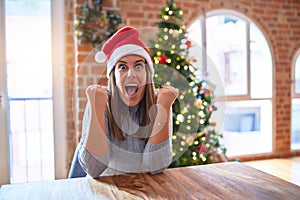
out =
<path fill-rule="evenodd" d="M 294 63 L 292 91 L 292 149 L 300 149 L 300 50 Z"/>

